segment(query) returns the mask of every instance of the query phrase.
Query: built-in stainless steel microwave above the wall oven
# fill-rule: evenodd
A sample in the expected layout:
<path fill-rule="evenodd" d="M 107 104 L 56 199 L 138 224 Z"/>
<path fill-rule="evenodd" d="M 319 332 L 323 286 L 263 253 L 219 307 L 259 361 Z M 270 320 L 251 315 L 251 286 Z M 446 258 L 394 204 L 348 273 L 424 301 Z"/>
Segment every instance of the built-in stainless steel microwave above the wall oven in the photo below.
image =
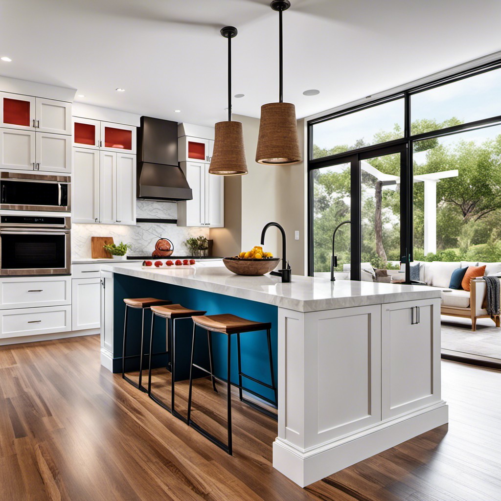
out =
<path fill-rule="evenodd" d="M 0 209 L 70 212 L 71 178 L 23 172 L 0 173 Z"/>

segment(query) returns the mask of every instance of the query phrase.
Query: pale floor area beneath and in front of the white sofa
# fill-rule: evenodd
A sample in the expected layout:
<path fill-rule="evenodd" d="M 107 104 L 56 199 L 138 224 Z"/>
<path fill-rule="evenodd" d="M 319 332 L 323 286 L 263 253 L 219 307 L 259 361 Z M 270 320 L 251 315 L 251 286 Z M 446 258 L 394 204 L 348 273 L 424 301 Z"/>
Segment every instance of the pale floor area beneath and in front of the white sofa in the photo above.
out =
<path fill-rule="evenodd" d="M 475 332 L 471 330 L 469 319 L 442 315 L 441 320 L 442 350 L 499 359 L 501 362 L 501 329 L 495 327 L 492 320 L 478 319 Z"/>

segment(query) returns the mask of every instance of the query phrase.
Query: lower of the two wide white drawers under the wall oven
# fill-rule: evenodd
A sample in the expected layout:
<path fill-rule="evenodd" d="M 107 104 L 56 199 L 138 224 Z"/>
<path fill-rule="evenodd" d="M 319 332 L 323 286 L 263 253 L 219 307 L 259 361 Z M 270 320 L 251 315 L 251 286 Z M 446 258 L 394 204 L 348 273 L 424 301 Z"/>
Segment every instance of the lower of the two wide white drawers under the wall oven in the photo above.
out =
<path fill-rule="evenodd" d="M 71 306 L 0 312 L 0 338 L 71 331 Z"/>

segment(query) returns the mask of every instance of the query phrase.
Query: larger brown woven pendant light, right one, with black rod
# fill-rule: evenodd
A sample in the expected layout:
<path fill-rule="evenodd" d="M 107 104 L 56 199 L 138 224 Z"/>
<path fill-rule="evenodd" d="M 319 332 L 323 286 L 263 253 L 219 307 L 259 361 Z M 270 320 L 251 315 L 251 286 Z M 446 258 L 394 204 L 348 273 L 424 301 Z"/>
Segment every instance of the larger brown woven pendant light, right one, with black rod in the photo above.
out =
<path fill-rule="evenodd" d="M 282 13 L 291 7 L 289 0 L 273 0 L 271 8 L 279 12 L 279 59 L 280 84 L 279 102 L 264 104 L 261 107 L 256 162 L 265 165 L 290 165 L 301 162 L 299 150 L 296 108 L 292 103 L 283 102 L 284 58 Z"/>

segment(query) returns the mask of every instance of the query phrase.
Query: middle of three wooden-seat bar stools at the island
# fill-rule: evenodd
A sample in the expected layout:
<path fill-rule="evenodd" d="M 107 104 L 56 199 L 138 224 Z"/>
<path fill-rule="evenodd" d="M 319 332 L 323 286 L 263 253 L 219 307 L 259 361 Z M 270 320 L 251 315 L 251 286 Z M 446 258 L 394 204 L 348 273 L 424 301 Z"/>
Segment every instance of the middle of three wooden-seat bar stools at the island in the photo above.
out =
<path fill-rule="evenodd" d="M 187 422 L 186 418 L 181 416 L 176 410 L 174 406 L 174 382 L 175 382 L 175 349 L 176 349 L 176 320 L 181 319 L 191 319 L 192 317 L 205 315 L 205 311 L 200 310 L 190 310 L 181 305 L 163 305 L 163 306 L 152 306 L 151 307 L 151 337 L 150 337 L 150 353 L 153 350 L 153 335 L 154 335 L 154 325 L 155 325 L 155 317 L 161 317 L 165 319 L 166 329 L 167 329 L 167 344 L 168 344 L 168 352 L 170 353 L 170 371 L 171 371 L 171 392 L 170 392 L 170 407 L 163 402 L 159 397 L 154 395 L 151 392 L 151 358 L 150 358 L 150 367 L 148 371 L 148 396 L 155 401 L 158 405 L 163 407 L 165 410 L 168 410 L 172 415 L 178 417 L 179 419 Z M 169 325 L 170 324 L 170 325 Z M 210 370 L 212 372 L 212 345 L 209 340 L 209 363 Z M 212 378 L 212 387 L 214 391 L 217 392 L 215 387 L 215 381 Z"/>

